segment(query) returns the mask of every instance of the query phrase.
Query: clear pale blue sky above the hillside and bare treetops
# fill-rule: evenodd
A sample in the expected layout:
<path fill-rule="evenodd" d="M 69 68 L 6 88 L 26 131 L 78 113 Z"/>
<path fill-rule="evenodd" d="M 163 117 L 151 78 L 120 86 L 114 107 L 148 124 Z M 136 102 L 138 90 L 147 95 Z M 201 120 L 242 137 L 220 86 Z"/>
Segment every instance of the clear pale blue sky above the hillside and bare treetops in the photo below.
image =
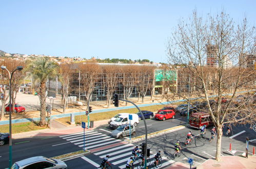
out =
<path fill-rule="evenodd" d="M 256 1 L 1 1 L 0 50 L 8 53 L 167 62 L 167 38 L 193 9 L 222 8 L 255 25 Z"/>

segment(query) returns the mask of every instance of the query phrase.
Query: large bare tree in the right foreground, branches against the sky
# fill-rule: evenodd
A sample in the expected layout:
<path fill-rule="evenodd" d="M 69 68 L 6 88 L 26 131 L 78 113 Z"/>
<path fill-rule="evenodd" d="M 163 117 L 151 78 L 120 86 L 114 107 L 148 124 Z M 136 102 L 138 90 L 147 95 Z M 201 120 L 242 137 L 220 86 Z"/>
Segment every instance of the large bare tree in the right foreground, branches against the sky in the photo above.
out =
<path fill-rule="evenodd" d="M 241 64 L 242 55 L 253 54 L 251 49 L 255 48 L 254 39 L 255 28 L 249 26 L 246 18 L 242 24 L 235 26 L 233 20 L 223 11 L 215 17 L 209 15 L 208 22 L 198 17 L 194 11 L 188 22 L 180 21 L 169 39 L 167 51 L 170 62 L 185 65 L 184 72 L 189 72 L 197 80 L 189 83 L 190 87 L 194 84 L 195 89 L 202 90 L 201 96 L 207 101 L 208 112 L 218 132 L 215 156 L 217 161 L 221 160 L 222 125 L 255 123 L 254 105 L 249 104 L 252 102 L 233 106 L 238 91 L 255 89 L 252 82 L 255 80 L 255 71 L 243 69 Z M 207 53 L 209 50 L 212 50 L 212 56 Z M 228 67 L 230 62 L 233 67 Z M 222 97 L 231 92 L 230 88 L 230 101 L 224 104 Z M 213 92 L 217 100 L 214 106 L 209 101 Z M 188 95 L 184 94 L 182 97 L 188 98 Z"/>

